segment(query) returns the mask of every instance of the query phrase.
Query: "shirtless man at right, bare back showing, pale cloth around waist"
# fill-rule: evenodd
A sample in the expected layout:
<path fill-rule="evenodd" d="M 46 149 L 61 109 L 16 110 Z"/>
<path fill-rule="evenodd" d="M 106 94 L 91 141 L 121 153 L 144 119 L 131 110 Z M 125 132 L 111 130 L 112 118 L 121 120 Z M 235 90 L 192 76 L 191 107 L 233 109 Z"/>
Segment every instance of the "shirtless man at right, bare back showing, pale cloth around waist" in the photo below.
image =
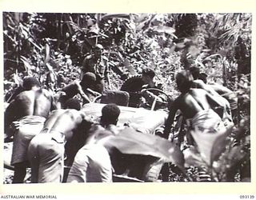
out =
<path fill-rule="evenodd" d="M 182 92 L 170 106 L 170 113 L 166 120 L 164 138 L 169 138 L 170 128 L 174 122 L 177 110 L 181 110 L 186 123 L 191 129 L 195 126 L 199 130 L 216 133 L 225 129 L 222 118 L 214 111 L 215 107 L 222 107 L 222 102 L 203 89 L 193 89 L 193 77 L 190 71 L 184 70 L 177 74 L 178 90 Z"/>

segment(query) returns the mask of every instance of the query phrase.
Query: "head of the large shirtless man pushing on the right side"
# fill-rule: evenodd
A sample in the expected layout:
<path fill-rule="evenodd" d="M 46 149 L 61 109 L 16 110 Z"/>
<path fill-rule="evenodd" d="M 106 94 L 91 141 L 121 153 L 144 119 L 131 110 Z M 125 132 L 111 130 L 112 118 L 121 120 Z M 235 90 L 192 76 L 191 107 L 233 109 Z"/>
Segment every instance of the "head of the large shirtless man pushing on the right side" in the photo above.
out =
<path fill-rule="evenodd" d="M 176 75 L 178 90 L 180 90 L 182 93 L 190 90 L 193 81 L 194 78 L 189 70 L 182 70 Z"/>

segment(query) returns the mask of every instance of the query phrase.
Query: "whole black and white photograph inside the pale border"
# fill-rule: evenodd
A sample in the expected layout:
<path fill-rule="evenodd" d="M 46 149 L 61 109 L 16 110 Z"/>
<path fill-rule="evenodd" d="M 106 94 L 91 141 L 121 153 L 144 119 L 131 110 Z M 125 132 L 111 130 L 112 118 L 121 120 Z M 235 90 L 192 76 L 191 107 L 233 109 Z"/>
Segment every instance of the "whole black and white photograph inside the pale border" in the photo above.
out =
<path fill-rule="evenodd" d="M 251 182 L 251 26 L 2 12 L 3 184 Z"/>

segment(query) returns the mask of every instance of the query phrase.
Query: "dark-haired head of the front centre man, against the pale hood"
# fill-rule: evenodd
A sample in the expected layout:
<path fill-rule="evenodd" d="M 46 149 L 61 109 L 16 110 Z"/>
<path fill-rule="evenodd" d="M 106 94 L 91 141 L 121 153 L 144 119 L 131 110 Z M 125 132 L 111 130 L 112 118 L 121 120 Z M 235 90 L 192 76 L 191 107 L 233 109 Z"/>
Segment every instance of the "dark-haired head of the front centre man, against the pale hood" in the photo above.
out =
<path fill-rule="evenodd" d="M 108 126 L 110 124 L 116 125 L 118 122 L 118 117 L 120 114 L 120 109 L 114 103 L 107 104 L 102 108 L 102 126 Z"/>

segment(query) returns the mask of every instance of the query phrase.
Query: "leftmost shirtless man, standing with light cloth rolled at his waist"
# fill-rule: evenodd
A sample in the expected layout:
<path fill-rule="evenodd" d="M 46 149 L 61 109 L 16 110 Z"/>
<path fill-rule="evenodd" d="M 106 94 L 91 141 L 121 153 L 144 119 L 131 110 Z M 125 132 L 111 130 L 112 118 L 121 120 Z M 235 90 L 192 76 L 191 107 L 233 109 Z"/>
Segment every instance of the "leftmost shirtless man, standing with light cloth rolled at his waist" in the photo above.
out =
<path fill-rule="evenodd" d="M 29 77 L 23 85 L 27 90 L 18 94 L 5 111 L 6 138 L 14 136 L 11 165 L 14 166 L 13 183 L 22 183 L 28 166 L 26 151 L 30 140 L 42 130 L 50 110 L 56 109 L 49 91 L 40 88 L 36 78 Z"/>

